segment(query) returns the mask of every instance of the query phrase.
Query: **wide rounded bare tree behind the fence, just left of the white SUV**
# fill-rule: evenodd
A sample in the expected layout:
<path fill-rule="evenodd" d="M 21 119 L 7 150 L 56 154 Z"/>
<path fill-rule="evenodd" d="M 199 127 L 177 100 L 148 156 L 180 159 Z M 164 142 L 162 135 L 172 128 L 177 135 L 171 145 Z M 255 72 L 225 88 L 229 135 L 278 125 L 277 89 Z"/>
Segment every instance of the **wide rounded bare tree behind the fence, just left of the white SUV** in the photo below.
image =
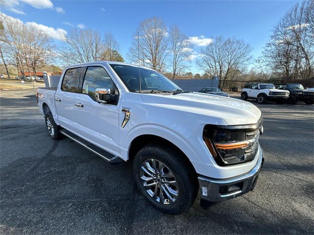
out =
<path fill-rule="evenodd" d="M 252 47 L 242 39 L 217 37 L 201 49 L 204 56 L 197 60 L 197 64 L 210 77 L 218 76 L 225 81 L 234 79 L 235 73 L 238 74 L 248 65 L 251 52 Z"/>

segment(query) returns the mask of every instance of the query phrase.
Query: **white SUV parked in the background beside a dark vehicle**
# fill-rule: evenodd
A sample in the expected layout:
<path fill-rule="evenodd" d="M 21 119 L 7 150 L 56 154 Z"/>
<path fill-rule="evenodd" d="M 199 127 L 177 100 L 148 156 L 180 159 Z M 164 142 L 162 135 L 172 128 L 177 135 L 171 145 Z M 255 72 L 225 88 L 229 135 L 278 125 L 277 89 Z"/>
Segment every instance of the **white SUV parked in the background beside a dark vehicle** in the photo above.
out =
<path fill-rule="evenodd" d="M 271 83 L 246 84 L 241 92 L 241 100 L 256 99 L 259 104 L 265 104 L 267 100 L 283 104 L 288 97 L 289 91 L 276 89 Z"/>

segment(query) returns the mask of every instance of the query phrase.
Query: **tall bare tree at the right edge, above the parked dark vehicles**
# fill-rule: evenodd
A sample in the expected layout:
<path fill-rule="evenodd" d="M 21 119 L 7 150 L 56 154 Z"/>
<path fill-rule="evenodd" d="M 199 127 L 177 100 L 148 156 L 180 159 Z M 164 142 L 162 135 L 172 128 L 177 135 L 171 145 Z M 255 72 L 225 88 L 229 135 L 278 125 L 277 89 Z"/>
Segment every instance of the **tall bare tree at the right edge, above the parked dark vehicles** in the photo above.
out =
<path fill-rule="evenodd" d="M 296 4 L 275 26 L 263 50 L 275 76 L 310 78 L 314 74 L 314 0 Z"/>

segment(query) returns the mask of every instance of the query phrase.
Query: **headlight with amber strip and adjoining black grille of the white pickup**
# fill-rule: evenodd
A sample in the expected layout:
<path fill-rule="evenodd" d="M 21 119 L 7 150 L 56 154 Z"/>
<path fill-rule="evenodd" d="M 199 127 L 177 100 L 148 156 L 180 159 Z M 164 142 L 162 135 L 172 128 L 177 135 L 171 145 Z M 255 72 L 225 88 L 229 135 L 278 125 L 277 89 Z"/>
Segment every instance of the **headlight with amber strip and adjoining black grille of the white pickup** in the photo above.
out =
<path fill-rule="evenodd" d="M 260 132 L 262 122 L 248 126 L 206 125 L 203 139 L 218 165 L 232 165 L 254 159 Z"/>

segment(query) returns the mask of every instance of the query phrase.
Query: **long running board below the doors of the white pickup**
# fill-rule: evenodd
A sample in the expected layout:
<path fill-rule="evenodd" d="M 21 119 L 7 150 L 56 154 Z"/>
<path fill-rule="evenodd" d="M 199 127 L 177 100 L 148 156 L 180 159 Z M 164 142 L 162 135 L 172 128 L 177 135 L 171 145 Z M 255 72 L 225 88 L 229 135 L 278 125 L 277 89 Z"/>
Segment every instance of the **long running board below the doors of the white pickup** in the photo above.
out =
<path fill-rule="evenodd" d="M 77 142 L 84 148 L 88 149 L 89 151 L 93 152 L 94 154 L 98 155 L 99 157 L 105 159 L 106 161 L 110 162 L 113 165 L 120 164 L 123 160 L 120 157 L 116 157 L 112 154 L 109 154 L 105 150 L 97 147 L 96 145 L 89 143 L 88 141 L 78 137 L 76 134 L 73 134 L 67 130 L 61 130 L 61 134 L 67 136 L 68 138 L 72 139 L 73 141 Z"/>

